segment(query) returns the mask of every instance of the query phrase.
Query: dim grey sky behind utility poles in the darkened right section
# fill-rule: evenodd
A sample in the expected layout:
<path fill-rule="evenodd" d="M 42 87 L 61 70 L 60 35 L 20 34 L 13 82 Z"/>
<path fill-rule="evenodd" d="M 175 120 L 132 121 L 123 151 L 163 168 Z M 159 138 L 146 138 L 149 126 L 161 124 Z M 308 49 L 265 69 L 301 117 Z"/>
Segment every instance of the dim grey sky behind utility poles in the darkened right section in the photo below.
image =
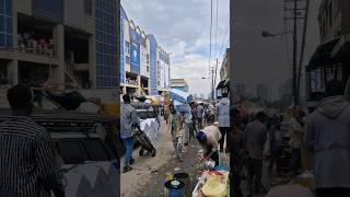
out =
<path fill-rule="evenodd" d="M 304 65 L 308 62 L 319 43 L 318 4 L 319 0 L 311 0 Z M 256 84 L 264 83 L 269 88 L 270 99 L 278 99 L 278 86 L 291 77 L 292 40 L 289 36 L 287 50 L 282 37 L 264 38 L 261 32 L 284 32 L 283 1 L 234 1 L 233 13 L 234 81 L 245 84 L 247 92 L 252 93 L 255 93 Z M 299 30 L 303 26 L 301 22 L 298 25 Z M 290 23 L 288 26 L 288 31 L 292 30 Z M 299 46 L 301 46 L 301 37 L 300 31 Z"/>

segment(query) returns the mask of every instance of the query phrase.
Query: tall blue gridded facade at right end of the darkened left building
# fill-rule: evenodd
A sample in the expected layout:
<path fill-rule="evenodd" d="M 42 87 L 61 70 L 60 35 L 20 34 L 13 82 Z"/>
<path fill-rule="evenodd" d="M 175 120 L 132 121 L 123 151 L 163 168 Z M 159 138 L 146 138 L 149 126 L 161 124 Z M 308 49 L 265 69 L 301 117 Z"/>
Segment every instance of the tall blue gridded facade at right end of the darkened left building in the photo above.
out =
<path fill-rule="evenodd" d="M 96 86 L 115 88 L 118 83 L 116 0 L 96 0 Z"/>

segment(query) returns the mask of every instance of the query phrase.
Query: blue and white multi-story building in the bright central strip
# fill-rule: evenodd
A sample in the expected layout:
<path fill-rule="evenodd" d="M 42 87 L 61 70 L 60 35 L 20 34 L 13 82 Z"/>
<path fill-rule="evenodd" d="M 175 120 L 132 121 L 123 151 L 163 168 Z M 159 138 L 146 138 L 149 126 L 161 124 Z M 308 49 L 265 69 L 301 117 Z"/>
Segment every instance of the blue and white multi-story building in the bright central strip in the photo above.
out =
<path fill-rule="evenodd" d="M 120 86 L 131 95 L 159 95 L 170 89 L 170 54 L 152 34 L 120 12 Z"/>

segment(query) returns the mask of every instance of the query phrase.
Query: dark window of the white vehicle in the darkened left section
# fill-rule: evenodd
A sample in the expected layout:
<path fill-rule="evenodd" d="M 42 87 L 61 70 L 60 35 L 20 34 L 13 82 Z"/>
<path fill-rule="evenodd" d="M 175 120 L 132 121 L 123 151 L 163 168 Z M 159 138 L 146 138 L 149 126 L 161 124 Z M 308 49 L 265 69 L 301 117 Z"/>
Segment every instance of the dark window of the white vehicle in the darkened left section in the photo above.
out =
<path fill-rule="evenodd" d="M 80 139 L 58 141 L 58 151 L 66 164 L 80 164 L 88 161 L 88 153 Z"/>

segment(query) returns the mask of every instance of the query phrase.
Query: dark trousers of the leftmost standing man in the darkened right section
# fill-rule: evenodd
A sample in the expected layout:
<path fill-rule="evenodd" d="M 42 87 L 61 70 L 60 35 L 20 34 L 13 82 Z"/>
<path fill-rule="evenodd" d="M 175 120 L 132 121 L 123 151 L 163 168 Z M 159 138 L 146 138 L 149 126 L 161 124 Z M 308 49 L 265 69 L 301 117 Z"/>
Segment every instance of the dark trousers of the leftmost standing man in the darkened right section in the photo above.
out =
<path fill-rule="evenodd" d="M 253 194 L 253 192 L 258 193 L 261 186 L 262 160 L 248 159 L 246 163 L 246 167 L 248 172 L 248 176 L 247 176 L 248 192 L 250 194 Z"/>

